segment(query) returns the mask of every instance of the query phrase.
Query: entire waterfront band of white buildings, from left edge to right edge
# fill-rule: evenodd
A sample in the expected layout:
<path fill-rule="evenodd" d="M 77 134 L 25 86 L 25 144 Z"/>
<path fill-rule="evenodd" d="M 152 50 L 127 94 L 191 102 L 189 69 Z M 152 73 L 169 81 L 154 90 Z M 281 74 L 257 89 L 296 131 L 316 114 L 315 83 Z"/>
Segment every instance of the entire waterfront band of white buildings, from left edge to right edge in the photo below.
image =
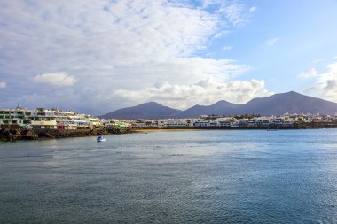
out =
<path fill-rule="evenodd" d="M 0 129 L 111 129 L 111 128 L 325 128 L 337 127 L 337 115 L 284 114 L 282 116 L 217 116 L 202 115 L 191 119 L 139 119 L 106 120 L 86 114 L 62 111 L 57 108 L 44 109 L 17 107 L 0 110 Z"/>

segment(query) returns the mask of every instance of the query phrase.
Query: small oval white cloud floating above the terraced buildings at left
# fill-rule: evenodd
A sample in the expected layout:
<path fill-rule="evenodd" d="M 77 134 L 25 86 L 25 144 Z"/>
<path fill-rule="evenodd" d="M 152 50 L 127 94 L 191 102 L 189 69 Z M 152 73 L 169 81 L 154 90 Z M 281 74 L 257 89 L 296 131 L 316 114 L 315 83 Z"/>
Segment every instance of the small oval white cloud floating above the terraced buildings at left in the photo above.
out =
<path fill-rule="evenodd" d="M 72 86 L 76 82 L 76 79 L 74 76 L 62 72 L 38 74 L 34 77 L 34 81 L 38 83 L 47 83 L 54 86 Z"/>

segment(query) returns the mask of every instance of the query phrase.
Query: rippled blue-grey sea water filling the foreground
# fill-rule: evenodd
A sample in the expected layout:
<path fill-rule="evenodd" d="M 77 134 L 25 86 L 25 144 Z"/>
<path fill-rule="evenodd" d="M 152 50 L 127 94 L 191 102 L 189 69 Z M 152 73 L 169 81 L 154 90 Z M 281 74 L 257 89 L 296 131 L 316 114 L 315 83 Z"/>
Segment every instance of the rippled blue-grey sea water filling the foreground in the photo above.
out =
<path fill-rule="evenodd" d="M 337 130 L 0 143 L 1 223 L 337 223 Z"/>

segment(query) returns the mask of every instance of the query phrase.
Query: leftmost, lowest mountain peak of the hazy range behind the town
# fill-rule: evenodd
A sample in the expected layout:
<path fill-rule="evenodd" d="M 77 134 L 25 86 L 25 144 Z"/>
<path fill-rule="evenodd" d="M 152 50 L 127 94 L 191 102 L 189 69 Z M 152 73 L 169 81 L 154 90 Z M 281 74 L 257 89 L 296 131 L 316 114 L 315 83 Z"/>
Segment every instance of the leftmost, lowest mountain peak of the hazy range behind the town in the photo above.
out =
<path fill-rule="evenodd" d="M 174 118 L 182 111 L 163 106 L 155 102 L 139 104 L 137 106 L 122 108 L 99 117 L 105 119 L 161 119 Z"/>

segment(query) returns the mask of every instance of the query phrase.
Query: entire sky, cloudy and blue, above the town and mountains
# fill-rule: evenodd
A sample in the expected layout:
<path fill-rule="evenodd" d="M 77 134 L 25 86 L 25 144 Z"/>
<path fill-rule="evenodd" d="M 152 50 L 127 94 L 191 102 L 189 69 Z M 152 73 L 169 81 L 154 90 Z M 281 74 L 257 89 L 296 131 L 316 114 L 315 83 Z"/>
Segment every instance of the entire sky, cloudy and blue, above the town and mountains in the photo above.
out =
<path fill-rule="evenodd" d="M 0 108 L 337 102 L 337 0 L 0 0 Z"/>

